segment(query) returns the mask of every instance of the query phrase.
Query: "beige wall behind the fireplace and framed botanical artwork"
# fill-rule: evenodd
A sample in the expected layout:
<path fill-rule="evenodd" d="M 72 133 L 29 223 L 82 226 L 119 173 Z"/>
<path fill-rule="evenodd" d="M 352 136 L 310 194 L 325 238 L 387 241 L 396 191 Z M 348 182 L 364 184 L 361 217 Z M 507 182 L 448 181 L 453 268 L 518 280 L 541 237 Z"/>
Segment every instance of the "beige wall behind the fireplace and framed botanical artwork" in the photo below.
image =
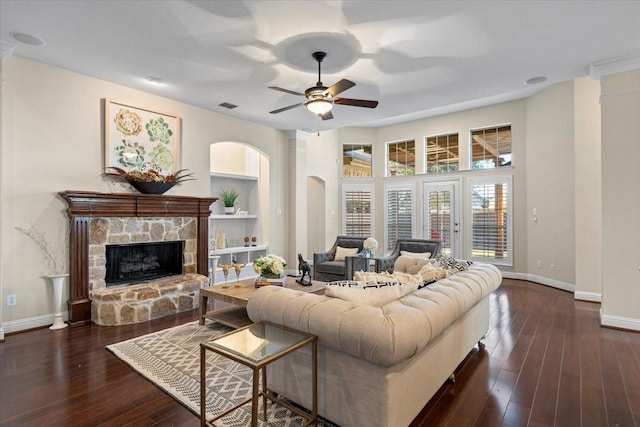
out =
<path fill-rule="evenodd" d="M 15 56 L 1 66 L 0 294 L 6 332 L 48 324 L 52 306 L 49 274 L 37 247 L 15 227 L 33 223 L 58 245 L 66 240 L 62 190 L 122 191 L 102 177 L 102 98 L 176 113 L 182 117 L 182 167 L 196 181 L 171 194 L 209 195 L 209 146 L 218 141 L 250 144 L 269 159 L 267 221 L 269 244 L 285 252 L 284 178 L 289 167 L 287 136 L 281 131 L 233 119 L 198 107 L 90 78 Z M 283 174 L 284 172 L 284 174 Z M 6 307 L 6 295 L 17 305 Z M 67 290 L 63 300 L 67 299 Z"/>

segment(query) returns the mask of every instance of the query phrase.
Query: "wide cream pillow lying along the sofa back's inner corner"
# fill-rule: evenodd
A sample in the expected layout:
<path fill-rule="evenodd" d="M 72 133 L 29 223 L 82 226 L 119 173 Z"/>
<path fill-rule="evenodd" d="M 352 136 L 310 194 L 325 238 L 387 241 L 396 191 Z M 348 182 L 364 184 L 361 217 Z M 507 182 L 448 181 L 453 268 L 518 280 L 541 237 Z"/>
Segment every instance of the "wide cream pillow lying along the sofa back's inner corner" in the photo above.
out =
<path fill-rule="evenodd" d="M 382 307 L 398 298 L 410 294 L 418 289 L 417 285 L 400 282 L 362 282 L 354 280 L 340 280 L 329 282 L 325 286 L 324 295 L 340 298 L 356 304 Z"/>

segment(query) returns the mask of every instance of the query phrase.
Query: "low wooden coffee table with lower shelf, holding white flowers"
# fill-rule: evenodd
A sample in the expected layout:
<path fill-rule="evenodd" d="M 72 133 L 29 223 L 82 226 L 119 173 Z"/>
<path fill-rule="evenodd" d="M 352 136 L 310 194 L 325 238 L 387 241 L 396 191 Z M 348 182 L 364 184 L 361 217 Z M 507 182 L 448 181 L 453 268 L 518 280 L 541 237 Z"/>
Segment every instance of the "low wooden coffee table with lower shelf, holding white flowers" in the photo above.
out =
<path fill-rule="evenodd" d="M 310 286 L 302 286 L 296 282 L 295 277 L 288 277 L 285 287 L 318 294 L 324 292 L 325 284 L 325 282 L 313 280 Z M 247 316 L 246 307 L 249 298 L 257 289 L 255 279 L 245 279 L 240 282 L 229 280 L 228 287 L 224 288 L 223 286 L 223 284 L 216 284 L 200 289 L 200 324 L 204 325 L 205 319 L 209 319 L 232 328 L 251 325 L 253 322 Z M 212 311 L 207 311 L 209 298 L 213 300 L 214 309 Z M 226 303 L 225 307 L 216 309 L 216 301 Z"/>

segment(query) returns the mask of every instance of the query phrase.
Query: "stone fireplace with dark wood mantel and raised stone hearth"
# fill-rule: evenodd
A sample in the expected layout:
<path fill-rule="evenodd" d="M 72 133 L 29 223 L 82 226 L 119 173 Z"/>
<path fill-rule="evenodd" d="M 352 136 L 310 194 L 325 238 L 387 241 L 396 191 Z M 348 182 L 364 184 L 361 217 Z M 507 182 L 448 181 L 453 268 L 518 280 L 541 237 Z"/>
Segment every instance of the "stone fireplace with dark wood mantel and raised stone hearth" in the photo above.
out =
<path fill-rule="evenodd" d="M 208 282 L 208 219 L 216 198 L 59 194 L 69 204 L 71 324 L 136 323 L 197 306 L 199 289 Z M 183 248 L 178 266 L 183 274 L 107 286 L 108 247 L 166 242 L 179 242 Z M 125 270 L 149 268 L 159 255 L 150 254 L 146 260 L 136 257 L 126 261 Z"/>

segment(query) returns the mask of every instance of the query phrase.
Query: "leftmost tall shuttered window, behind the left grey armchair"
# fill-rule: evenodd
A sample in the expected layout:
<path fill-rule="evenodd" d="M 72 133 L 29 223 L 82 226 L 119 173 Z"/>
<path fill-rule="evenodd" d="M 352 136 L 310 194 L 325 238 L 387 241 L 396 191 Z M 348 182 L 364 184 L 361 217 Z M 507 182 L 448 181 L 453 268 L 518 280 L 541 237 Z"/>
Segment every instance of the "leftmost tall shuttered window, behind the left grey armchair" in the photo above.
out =
<path fill-rule="evenodd" d="M 343 231 L 346 236 L 373 235 L 373 185 L 345 185 L 342 191 Z"/>

